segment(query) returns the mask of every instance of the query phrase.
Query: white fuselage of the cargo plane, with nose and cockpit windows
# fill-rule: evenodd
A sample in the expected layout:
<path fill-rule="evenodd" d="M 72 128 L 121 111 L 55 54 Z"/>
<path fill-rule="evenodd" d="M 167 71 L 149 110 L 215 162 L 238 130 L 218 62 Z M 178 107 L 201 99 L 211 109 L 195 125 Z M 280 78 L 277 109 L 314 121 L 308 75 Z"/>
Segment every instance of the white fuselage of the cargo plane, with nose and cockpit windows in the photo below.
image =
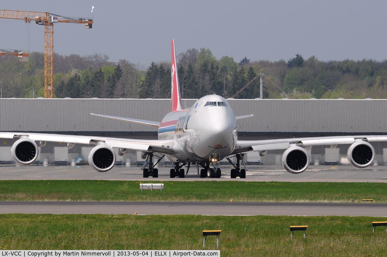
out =
<path fill-rule="evenodd" d="M 158 138 L 175 140 L 175 153 L 167 155 L 173 162 L 208 160 L 214 154 L 223 159 L 236 145 L 236 118 L 226 99 L 204 96 L 190 109 L 168 113 L 160 123 Z"/>

